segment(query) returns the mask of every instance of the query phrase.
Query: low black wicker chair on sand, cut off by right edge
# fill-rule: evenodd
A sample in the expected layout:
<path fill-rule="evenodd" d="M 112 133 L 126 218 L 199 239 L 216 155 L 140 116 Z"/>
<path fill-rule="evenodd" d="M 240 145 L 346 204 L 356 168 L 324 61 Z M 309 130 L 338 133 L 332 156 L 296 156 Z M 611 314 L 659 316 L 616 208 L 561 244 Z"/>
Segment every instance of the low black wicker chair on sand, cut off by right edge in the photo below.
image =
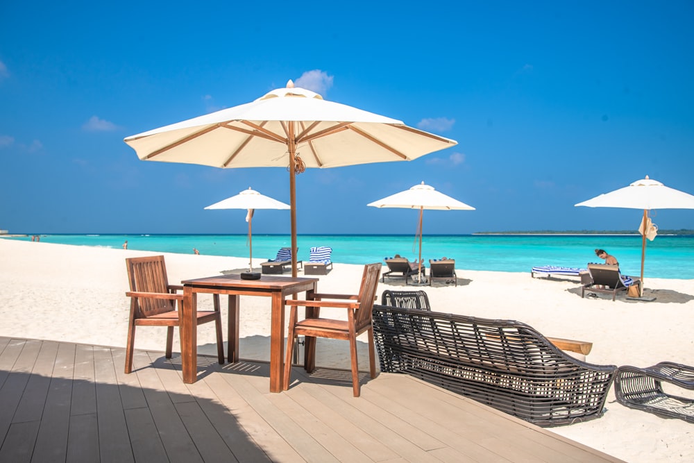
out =
<path fill-rule="evenodd" d="M 668 392 L 662 383 L 668 383 Z M 648 368 L 619 367 L 614 380 L 617 401 L 663 416 L 694 423 L 694 399 L 673 394 L 677 387 L 694 390 L 694 367 L 672 362 L 661 362 Z"/>

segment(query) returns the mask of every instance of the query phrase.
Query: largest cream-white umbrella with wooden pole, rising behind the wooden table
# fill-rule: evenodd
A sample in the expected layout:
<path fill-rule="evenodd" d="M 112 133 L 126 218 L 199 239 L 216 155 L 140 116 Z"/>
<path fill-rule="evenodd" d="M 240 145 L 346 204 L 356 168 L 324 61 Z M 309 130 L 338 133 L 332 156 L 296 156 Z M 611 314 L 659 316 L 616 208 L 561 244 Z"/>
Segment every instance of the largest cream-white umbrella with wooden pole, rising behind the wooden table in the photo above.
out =
<path fill-rule="evenodd" d="M 295 176 L 307 167 L 339 167 L 413 160 L 456 142 L 402 121 L 287 87 L 233 108 L 212 112 L 124 140 L 141 160 L 213 167 L 289 169 L 291 273 L 296 276 Z"/>

